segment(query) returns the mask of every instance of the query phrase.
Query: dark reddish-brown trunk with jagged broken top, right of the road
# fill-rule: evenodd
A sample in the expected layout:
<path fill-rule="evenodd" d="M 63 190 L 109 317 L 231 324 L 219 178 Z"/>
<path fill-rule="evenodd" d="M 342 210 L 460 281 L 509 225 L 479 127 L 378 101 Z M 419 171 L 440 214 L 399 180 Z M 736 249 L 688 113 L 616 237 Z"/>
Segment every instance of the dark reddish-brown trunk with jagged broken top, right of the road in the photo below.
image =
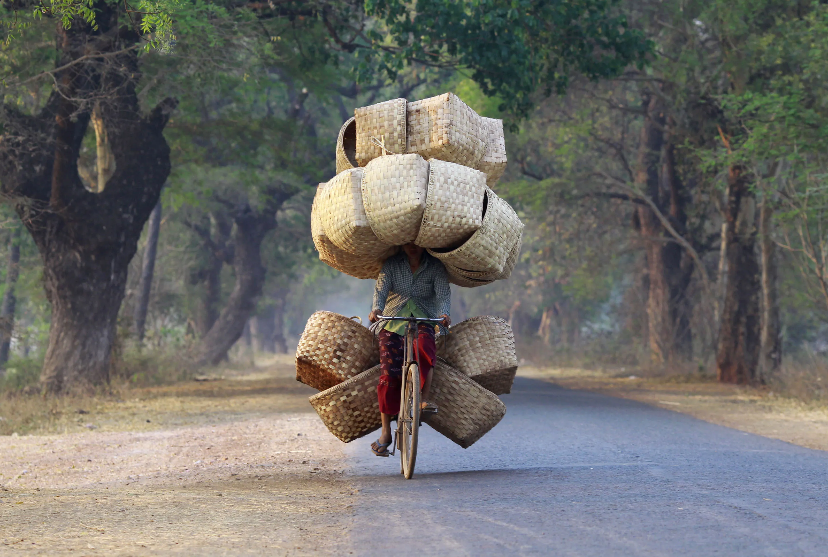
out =
<path fill-rule="evenodd" d="M 729 171 L 724 208 L 725 271 L 716 374 L 720 382 L 759 382 L 759 266 L 756 258 L 756 200 L 743 169 Z"/>

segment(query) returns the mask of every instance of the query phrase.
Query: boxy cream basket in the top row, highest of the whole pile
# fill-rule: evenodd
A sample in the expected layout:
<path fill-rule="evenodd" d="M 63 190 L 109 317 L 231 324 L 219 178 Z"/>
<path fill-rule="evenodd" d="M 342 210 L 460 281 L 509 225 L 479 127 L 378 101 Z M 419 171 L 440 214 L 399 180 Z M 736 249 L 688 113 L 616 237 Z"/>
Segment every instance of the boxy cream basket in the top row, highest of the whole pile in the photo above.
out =
<path fill-rule="evenodd" d="M 408 103 L 408 153 L 478 168 L 486 153 L 488 127 L 454 93 Z"/>

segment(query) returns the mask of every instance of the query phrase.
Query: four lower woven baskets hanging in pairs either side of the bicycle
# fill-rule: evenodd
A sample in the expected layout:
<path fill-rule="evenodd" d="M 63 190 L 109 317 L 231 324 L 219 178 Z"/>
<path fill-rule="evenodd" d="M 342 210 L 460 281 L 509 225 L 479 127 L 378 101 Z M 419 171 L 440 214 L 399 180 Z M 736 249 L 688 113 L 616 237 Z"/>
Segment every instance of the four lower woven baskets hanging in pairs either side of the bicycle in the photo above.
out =
<path fill-rule="evenodd" d="M 464 449 L 506 414 L 497 395 L 517 371 L 514 335 L 492 316 L 452 325 L 437 339 L 430 401 L 440 412 L 426 423 Z M 310 404 L 345 443 L 382 425 L 377 399 L 379 353 L 373 333 L 344 315 L 317 311 L 296 348 L 296 379 L 321 391 Z"/>

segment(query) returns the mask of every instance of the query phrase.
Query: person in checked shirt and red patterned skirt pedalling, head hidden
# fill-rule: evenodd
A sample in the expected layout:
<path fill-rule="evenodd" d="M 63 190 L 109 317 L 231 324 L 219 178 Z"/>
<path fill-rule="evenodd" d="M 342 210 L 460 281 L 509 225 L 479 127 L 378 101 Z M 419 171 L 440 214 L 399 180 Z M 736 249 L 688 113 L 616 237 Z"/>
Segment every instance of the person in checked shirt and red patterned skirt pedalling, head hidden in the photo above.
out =
<path fill-rule="evenodd" d="M 373 292 L 373 309 L 368 319 L 374 323 L 380 315 L 392 317 L 443 318 L 442 325 L 451 324 L 449 317 L 451 291 L 445 266 L 414 243 L 402 246 L 402 252 L 389 257 L 377 277 Z M 373 454 L 387 457 L 392 443 L 391 419 L 400 411 L 402 365 L 405 355 L 405 321 L 386 321 L 378 334 L 380 377 L 377 387 L 383 430 L 371 444 Z M 422 388 L 421 412 L 436 414 L 439 409 L 428 402 L 431 388 L 431 367 L 436 360 L 434 326 L 417 325 L 416 358 L 420 363 Z"/>

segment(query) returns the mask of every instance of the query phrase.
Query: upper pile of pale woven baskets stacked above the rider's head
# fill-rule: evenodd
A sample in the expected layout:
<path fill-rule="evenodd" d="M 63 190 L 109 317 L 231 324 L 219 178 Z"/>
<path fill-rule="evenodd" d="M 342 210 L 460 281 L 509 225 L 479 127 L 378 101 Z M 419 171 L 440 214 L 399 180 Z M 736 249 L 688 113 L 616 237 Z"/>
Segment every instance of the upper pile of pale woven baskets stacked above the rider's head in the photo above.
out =
<path fill-rule="evenodd" d="M 357 108 L 336 144 L 337 175 L 316 191 L 311 233 L 320 259 L 376 278 L 414 242 L 474 287 L 511 275 L 523 224 L 491 187 L 506 169 L 503 121 L 457 95 Z"/>

